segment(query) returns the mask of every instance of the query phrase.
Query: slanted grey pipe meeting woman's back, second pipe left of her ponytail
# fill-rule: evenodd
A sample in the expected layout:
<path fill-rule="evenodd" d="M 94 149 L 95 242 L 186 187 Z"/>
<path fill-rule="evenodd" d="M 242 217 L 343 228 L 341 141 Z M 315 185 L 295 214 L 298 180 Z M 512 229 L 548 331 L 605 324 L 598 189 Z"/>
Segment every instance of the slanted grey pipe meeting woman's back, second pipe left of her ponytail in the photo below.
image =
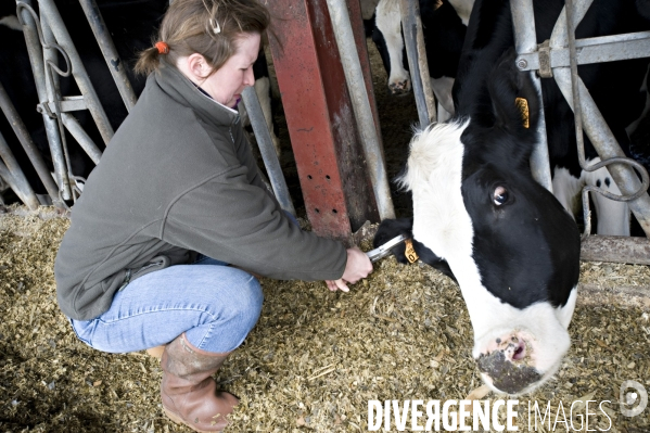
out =
<path fill-rule="evenodd" d="M 77 49 L 75 48 L 75 44 L 67 33 L 67 29 L 65 28 L 65 23 L 63 22 L 63 18 L 61 17 L 61 14 L 59 13 L 53 0 L 38 0 L 38 3 L 41 9 L 41 14 L 47 17 L 48 24 L 56 37 L 56 41 L 69 56 L 73 65 L 73 76 L 75 77 L 75 81 L 77 81 L 77 86 L 79 86 L 79 90 L 81 90 L 81 94 L 84 94 L 88 111 L 90 111 L 102 139 L 104 140 L 104 143 L 107 144 L 114 135 L 113 127 L 111 126 L 109 117 L 106 116 L 99 97 L 92 87 L 92 82 L 88 77 L 88 73 L 86 72 L 86 67 L 81 62 L 81 58 L 79 56 L 79 53 L 77 52 Z"/>

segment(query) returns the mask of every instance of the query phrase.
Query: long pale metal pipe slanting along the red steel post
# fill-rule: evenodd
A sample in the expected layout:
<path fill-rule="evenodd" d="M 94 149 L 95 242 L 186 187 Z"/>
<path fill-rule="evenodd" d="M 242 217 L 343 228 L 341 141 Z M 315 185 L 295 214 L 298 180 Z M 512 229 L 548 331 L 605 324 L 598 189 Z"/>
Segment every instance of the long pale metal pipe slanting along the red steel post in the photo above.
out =
<path fill-rule="evenodd" d="M 379 216 L 381 219 L 395 218 L 383 150 L 379 144 L 379 137 L 374 127 L 372 111 L 370 110 L 366 81 L 364 80 L 359 54 L 354 42 L 355 39 L 347 12 L 347 4 L 345 0 L 328 0 L 328 9 L 332 26 L 334 27 L 334 36 L 341 54 L 341 63 L 343 64 L 353 111 L 361 136 L 361 144 L 364 145 L 366 163 L 370 171 Z"/>

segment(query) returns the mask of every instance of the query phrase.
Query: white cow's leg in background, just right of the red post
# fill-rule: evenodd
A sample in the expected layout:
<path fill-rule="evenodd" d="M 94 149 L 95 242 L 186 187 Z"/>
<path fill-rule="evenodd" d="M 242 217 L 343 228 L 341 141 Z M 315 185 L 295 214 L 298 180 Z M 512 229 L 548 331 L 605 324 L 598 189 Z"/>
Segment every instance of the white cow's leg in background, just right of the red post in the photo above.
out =
<path fill-rule="evenodd" d="M 404 40 L 402 39 L 402 14 L 399 2 L 381 0 L 377 5 L 377 28 L 382 33 L 388 51 L 391 93 L 406 93 L 411 89 L 410 75 L 404 68 Z"/>

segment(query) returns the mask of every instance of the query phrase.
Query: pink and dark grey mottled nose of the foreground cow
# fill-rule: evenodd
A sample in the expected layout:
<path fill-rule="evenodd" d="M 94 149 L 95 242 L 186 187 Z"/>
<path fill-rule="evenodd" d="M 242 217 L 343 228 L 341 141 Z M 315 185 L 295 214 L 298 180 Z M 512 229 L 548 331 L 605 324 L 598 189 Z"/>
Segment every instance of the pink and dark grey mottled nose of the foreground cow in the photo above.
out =
<path fill-rule="evenodd" d="M 486 382 L 507 394 L 519 394 L 538 382 L 543 374 L 535 367 L 535 344 L 513 331 L 489 342 L 476 359 Z"/>

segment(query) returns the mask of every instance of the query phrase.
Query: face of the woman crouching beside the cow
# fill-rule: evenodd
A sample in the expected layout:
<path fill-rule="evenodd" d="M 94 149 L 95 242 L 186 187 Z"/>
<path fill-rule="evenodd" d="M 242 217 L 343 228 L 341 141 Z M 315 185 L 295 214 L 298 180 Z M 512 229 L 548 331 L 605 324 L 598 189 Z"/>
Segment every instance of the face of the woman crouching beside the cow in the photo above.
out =
<path fill-rule="evenodd" d="M 257 60 L 260 39 L 258 34 L 244 34 L 234 54 L 214 74 L 196 84 L 215 101 L 234 109 L 244 88 L 255 84 L 253 63 Z"/>

